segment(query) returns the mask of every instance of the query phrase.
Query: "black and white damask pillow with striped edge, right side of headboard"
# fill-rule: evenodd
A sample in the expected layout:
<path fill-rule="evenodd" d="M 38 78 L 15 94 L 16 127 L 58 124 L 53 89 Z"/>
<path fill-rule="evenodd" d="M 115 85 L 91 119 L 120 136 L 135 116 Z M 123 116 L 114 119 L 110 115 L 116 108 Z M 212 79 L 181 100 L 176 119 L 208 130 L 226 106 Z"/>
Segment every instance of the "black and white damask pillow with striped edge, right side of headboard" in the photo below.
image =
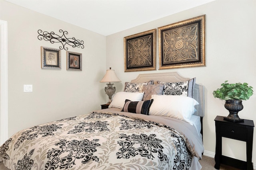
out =
<path fill-rule="evenodd" d="M 184 82 L 159 82 L 164 84 L 163 95 L 182 95 L 193 97 L 193 89 L 196 83 L 196 78 L 192 78 Z"/>

